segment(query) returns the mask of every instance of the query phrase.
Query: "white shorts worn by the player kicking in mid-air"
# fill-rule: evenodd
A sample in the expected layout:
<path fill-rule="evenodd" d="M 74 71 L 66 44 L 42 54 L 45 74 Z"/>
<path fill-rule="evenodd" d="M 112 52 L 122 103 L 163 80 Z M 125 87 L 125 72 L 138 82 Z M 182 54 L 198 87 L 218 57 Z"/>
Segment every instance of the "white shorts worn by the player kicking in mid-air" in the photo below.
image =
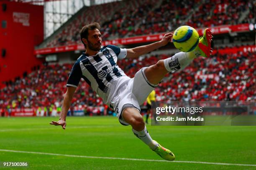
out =
<path fill-rule="evenodd" d="M 140 105 L 145 102 L 152 90 L 158 86 L 148 82 L 144 74 L 145 69 L 146 67 L 141 68 L 133 78 L 126 80 L 116 87 L 118 90 L 111 100 L 110 106 L 115 110 L 122 125 L 129 125 L 123 120 L 123 110 L 128 107 L 134 107 L 141 112 Z"/>

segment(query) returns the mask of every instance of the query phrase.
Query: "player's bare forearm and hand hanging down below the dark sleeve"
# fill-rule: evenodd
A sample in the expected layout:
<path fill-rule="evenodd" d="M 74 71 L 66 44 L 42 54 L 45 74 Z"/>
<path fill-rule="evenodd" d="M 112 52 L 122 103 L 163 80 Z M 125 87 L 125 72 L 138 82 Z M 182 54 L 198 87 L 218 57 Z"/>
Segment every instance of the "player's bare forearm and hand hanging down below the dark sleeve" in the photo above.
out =
<path fill-rule="evenodd" d="M 71 105 L 72 102 L 72 98 L 74 95 L 74 92 L 76 91 L 75 87 L 67 87 L 67 92 L 64 95 L 64 100 L 63 100 L 63 104 L 61 107 L 61 113 L 59 115 L 59 121 L 51 121 L 50 124 L 51 125 L 55 125 L 55 126 L 59 126 L 61 125 L 63 129 L 66 128 L 66 117 L 67 117 L 67 112 L 69 111 L 69 107 Z"/>

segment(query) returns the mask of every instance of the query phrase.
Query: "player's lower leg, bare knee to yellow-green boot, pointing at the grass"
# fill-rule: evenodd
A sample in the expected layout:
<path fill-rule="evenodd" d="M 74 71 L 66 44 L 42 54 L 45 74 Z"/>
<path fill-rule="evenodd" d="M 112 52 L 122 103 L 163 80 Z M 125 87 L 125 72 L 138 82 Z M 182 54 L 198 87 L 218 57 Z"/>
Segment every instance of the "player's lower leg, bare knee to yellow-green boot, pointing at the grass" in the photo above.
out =
<path fill-rule="evenodd" d="M 152 140 L 146 129 L 143 117 L 141 116 L 138 109 L 128 107 L 123 110 L 121 116 L 126 123 L 133 127 L 132 130 L 134 135 L 136 135 L 136 137 L 148 145 L 149 148 L 151 148 L 151 150 L 153 150 L 156 154 L 161 156 L 161 158 L 170 161 L 175 159 L 175 155 L 170 150 L 162 147 L 155 140 Z"/>

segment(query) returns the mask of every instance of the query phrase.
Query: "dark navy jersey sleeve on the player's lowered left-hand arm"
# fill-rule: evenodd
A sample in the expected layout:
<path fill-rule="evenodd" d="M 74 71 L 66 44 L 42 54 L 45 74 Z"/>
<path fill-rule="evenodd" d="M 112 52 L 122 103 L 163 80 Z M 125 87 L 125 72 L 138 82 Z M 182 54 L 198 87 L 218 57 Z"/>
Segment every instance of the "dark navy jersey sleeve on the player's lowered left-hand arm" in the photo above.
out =
<path fill-rule="evenodd" d="M 79 62 L 77 61 L 74 63 L 72 70 L 69 74 L 69 79 L 67 81 L 67 87 L 68 86 L 77 87 L 81 78 L 82 78 L 82 70 L 81 70 Z"/>

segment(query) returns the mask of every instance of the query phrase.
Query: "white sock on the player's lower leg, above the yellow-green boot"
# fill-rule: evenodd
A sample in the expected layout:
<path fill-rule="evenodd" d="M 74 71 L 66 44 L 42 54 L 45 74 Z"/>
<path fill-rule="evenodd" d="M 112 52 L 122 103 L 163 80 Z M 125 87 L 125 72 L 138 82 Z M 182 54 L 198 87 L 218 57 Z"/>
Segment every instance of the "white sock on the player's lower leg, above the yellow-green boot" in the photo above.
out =
<path fill-rule="evenodd" d="M 143 143 L 145 143 L 146 145 L 149 146 L 149 148 L 151 149 L 156 149 L 158 147 L 158 144 L 152 140 L 152 138 L 150 137 L 147 129 L 146 129 L 146 126 L 143 130 L 141 131 L 136 131 L 133 129 L 133 133 L 135 136 L 137 136 L 140 140 L 143 141 Z"/>

